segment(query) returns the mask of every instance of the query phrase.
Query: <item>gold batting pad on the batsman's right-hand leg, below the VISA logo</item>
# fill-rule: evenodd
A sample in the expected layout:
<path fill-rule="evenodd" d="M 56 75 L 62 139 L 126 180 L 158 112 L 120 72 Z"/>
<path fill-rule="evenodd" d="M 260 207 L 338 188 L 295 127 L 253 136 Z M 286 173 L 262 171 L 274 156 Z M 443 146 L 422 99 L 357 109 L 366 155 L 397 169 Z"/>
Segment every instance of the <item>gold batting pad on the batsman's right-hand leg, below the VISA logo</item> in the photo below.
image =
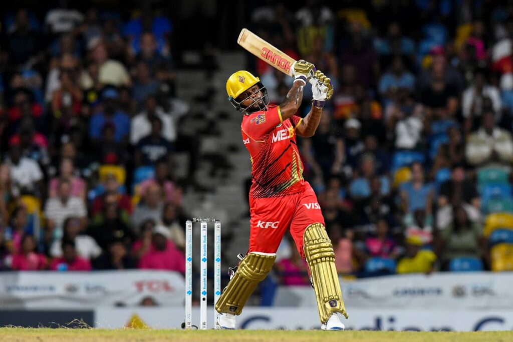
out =
<path fill-rule="evenodd" d="M 321 323 L 326 323 L 334 312 L 340 312 L 347 318 L 339 276 L 335 268 L 335 253 L 324 225 L 314 223 L 306 227 L 303 242 Z"/>

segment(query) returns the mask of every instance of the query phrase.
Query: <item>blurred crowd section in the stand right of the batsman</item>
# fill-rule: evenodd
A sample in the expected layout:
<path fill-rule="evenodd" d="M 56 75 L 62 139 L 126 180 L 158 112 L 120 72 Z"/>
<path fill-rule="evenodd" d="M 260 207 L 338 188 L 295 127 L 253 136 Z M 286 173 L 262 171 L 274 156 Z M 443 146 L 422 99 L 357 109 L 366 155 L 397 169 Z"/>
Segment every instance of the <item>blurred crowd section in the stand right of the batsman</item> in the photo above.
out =
<path fill-rule="evenodd" d="M 299 145 L 339 273 L 512 270 L 513 2 L 305 3 L 266 2 L 251 29 L 333 83 Z M 291 79 L 251 68 L 279 104 Z M 290 241 L 282 281 L 308 285 Z"/>

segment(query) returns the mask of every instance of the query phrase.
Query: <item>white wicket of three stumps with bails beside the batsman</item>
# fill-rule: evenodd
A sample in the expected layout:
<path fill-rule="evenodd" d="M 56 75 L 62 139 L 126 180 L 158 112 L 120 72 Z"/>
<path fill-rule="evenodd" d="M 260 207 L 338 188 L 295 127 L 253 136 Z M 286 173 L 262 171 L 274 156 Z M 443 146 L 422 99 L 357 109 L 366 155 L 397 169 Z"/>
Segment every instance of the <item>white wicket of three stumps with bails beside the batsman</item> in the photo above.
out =
<path fill-rule="evenodd" d="M 185 329 L 192 329 L 192 223 L 201 228 L 200 268 L 200 329 L 207 329 L 207 229 L 214 223 L 214 306 L 221 295 L 221 221 L 214 218 L 193 218 L 185 223 Z M 218 313 L 214 310 L 214 329 L 219 329 Z"/>

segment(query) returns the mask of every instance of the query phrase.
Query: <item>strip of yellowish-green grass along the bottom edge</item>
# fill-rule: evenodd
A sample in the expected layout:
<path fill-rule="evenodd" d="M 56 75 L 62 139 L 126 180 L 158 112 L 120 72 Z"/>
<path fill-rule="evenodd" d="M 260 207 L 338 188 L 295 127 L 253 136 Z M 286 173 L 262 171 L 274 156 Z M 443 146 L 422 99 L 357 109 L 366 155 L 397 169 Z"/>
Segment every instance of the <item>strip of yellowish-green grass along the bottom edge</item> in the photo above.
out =
<path fill-rule="evenodd" d="M 284 330 L 155 330 L 155 329 L 23 329 L 0 328 L 2 341 L 181 341 L 181 342 L 330 342 L 330 341 L 513 341 L 513 331 L 401 332 L 401 331 L 284 331 Z"/>

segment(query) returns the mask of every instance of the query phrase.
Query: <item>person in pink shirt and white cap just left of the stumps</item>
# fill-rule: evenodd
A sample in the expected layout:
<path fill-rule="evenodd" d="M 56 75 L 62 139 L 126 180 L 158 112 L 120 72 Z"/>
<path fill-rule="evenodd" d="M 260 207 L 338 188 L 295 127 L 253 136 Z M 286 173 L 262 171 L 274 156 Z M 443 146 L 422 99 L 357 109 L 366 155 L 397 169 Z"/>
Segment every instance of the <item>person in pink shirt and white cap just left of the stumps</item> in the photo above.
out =
<path fill-rule="evenodd" d="M 185 273 L 185 257 L 174 244 L 169 244 L 169 230 L 156 226 L 151 238 L 152 248 L 144 253 L 139 268 L 146 270 L 167 270 Z"/>

